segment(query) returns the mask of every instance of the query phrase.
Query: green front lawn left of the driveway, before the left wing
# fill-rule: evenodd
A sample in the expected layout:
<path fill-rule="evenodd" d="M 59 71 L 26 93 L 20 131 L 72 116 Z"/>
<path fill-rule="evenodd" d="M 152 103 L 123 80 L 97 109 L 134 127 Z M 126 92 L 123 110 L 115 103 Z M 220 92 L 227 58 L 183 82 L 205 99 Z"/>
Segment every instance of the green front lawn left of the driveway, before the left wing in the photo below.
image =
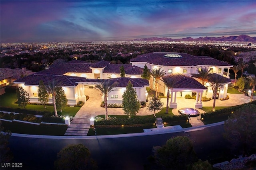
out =
<path fill-rule="evenodd" d="M 21 108 L 18 106 L 18 104 L 15 104 L 14 102 L 17 100 L 16 93 L 5 93 L 0 96 L 0 106 L 1 107 L 8 107 L 8 108 Z M 66 106 L 62 112 L 58 111 L 58 115 L 69 115 L 69 116 L 75 116 L 78 110 L 81 107 L 68 107 Z M 43 105 L 34 105 L 34 104 L 28 104 L 25 109 L 27 110 L 35 110 L 35 111 L 54 111 L 53 106 L 46 106 L 46 109 Z"/>

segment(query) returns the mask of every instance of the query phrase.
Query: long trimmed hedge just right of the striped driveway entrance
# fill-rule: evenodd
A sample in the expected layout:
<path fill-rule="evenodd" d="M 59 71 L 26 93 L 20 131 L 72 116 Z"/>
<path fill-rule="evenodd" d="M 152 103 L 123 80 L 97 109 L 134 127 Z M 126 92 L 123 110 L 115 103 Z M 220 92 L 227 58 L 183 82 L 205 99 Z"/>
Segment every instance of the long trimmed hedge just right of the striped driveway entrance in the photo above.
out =
<path fill-rule="evenodd" d="M 94 120 L 94 125 L 134 125 L 134 124 L 147 124 L 155 123 L 156 118 L 154 117 L 132 117 L 132 118 L 113 118 L 110 117 L 108 120 L 105 120 L 101 117 L 96 117 Z"/>

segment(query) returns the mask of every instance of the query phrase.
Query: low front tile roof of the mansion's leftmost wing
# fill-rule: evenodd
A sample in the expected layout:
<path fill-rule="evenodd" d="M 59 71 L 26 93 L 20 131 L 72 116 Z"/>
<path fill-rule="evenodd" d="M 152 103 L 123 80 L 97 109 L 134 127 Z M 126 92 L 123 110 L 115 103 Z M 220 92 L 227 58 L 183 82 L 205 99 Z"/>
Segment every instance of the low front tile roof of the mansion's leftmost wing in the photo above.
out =
<path fill-rule="evenodd" d="M 56 80 L 56 83 L 60 86 L 77 86 L 78 83 L 73 82 L 69 79 L 70 76 L 63 75 L 48 75 L 48 74 L 31 74 L 29 76 L 15 80 L 14 82 L 22 82 L 26 85 L 38 85 L 40 80 L 44 82 L 45 85 L 52 80 Z"/>

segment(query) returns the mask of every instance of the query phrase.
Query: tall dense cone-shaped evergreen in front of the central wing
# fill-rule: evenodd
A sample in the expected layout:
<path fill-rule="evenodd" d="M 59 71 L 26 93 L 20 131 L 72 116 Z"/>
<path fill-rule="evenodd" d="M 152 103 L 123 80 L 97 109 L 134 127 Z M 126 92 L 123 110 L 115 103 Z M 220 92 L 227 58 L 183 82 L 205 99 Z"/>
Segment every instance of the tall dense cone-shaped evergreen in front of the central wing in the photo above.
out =
<path fill-rule="evenodd" d="M 126 86 L 122 105 L 124 114 L 129 115 L 129 118 L 136 115 L 140 110 L 140 101 L 137 100 L 137 93 L 136 90 L 133 88 L 131 81 L 129 81 Z"/>

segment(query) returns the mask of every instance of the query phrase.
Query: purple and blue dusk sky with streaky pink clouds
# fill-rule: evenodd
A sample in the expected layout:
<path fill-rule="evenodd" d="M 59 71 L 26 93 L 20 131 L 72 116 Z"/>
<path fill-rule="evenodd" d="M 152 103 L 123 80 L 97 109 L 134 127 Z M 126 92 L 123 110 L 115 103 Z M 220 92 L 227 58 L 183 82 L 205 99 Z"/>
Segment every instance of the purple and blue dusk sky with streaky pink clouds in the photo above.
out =
<path fill-rule="evenodd" d="M 256 36 L 256 1 L 0 1 L 1 42 Z"/>

